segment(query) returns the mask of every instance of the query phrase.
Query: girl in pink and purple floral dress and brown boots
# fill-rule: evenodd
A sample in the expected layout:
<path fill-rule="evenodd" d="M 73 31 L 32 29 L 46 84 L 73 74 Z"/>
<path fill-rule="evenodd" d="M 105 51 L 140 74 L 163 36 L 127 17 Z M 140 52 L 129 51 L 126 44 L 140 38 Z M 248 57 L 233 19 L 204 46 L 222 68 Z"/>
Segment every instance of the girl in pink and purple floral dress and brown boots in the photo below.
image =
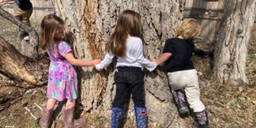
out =
<path fill-rule="evenodd" d="M 42 128 L 49 128 L 53 107 L 56 101 L 67 99 L 62 109 L 64 128 L 80 128 L 85 119 L 74 117 L 74 107 L 78 98 L 78 79 L 76 66 L 94 66 L 100 60 L 84 61 L 74 58 L 70 44 L 64 39 L 64 21 L 55 15 L 49 14 L 41 23 L 42 49 L 46 49 L 50 57 L 49 79 L 47 85 L 47 104 L 40 119 Z"/>

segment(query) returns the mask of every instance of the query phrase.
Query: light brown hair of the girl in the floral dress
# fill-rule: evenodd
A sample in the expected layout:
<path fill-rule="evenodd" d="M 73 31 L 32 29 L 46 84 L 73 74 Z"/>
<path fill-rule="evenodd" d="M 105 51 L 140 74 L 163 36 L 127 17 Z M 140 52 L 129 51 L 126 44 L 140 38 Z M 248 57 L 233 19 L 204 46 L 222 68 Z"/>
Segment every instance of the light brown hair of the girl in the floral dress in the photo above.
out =
<path fill-rule="evenodd" d="M 55 38 L 54 35 L 61 30 L 64 30 L 64 21 L 55 15 L 46 15 L 41 22 L 41 38 L 40 46 L 42 49 L 49 47 L 54 50 Z"/>

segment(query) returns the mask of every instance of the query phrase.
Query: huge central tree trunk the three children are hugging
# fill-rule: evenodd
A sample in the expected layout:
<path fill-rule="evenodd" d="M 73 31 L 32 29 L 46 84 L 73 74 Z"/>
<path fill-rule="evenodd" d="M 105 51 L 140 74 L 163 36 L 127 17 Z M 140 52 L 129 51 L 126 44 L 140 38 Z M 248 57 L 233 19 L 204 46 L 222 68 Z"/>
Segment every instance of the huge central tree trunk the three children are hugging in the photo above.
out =
<path fill-rule="evenodd" d="M 143 20 L 144 51 L 147 58 L 158 57 L 167 38 L 183 17 L 183 0 L 52 0 L 57 15 L 62 17 L 73 35 L 77 58 L 95 59 L 105 55 L 106 42 L 114 30 L 118 15 L 125 9 L 140 13 Z M 84 111 L 110 117 L 115 96 L 113 74 L 115 63 L 97 72 L 91 67 L 79 68 L 81 104 Z M 131 100 L 132 101 L 132 100 Z M 177 119 L 177 108 L 161 68 L 145 71 L 145 101 L 149 128 L 185 128 L 186 121 Z M 128 103 L 128 115 L 134 112 Z"/>

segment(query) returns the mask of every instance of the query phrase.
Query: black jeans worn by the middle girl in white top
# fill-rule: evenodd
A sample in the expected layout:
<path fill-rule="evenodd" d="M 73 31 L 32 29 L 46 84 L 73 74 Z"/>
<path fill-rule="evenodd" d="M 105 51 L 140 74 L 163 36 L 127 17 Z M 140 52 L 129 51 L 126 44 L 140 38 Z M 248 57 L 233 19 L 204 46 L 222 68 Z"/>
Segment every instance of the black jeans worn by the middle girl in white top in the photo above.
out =
<path fill-rule="evenodd" d="M 113 107 L 122 108 L 130 92 L 134 106 L 145 107 L 143 78 L 143 71 L 140 67 L 117 67 L 114 76 L 116 96 Z"/>

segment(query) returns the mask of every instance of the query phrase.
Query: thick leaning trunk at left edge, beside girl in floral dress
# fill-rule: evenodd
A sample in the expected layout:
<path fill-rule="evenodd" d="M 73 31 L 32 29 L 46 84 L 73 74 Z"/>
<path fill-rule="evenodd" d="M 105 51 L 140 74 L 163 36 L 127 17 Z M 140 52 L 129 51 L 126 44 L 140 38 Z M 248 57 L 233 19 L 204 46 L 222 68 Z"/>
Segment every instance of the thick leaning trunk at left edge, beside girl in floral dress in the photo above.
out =
<path fill-rule="evenodd" d="M 43 86 L 46 84 L 48 64 L 43 63 L 45 59 L 35 60 L 20 54 L 14 46 L 6 42 L 1 36 L 0 51 L 1 74 L 21 82 L 22 84 L 18 85 L 20 87 L 26 87 L 26 85 Z M 4 83 L 8 83 L 10 86 L 15 84 L 13 81 L 5 81 L 1 77 L 0 84 L 3 85 Z"/>

